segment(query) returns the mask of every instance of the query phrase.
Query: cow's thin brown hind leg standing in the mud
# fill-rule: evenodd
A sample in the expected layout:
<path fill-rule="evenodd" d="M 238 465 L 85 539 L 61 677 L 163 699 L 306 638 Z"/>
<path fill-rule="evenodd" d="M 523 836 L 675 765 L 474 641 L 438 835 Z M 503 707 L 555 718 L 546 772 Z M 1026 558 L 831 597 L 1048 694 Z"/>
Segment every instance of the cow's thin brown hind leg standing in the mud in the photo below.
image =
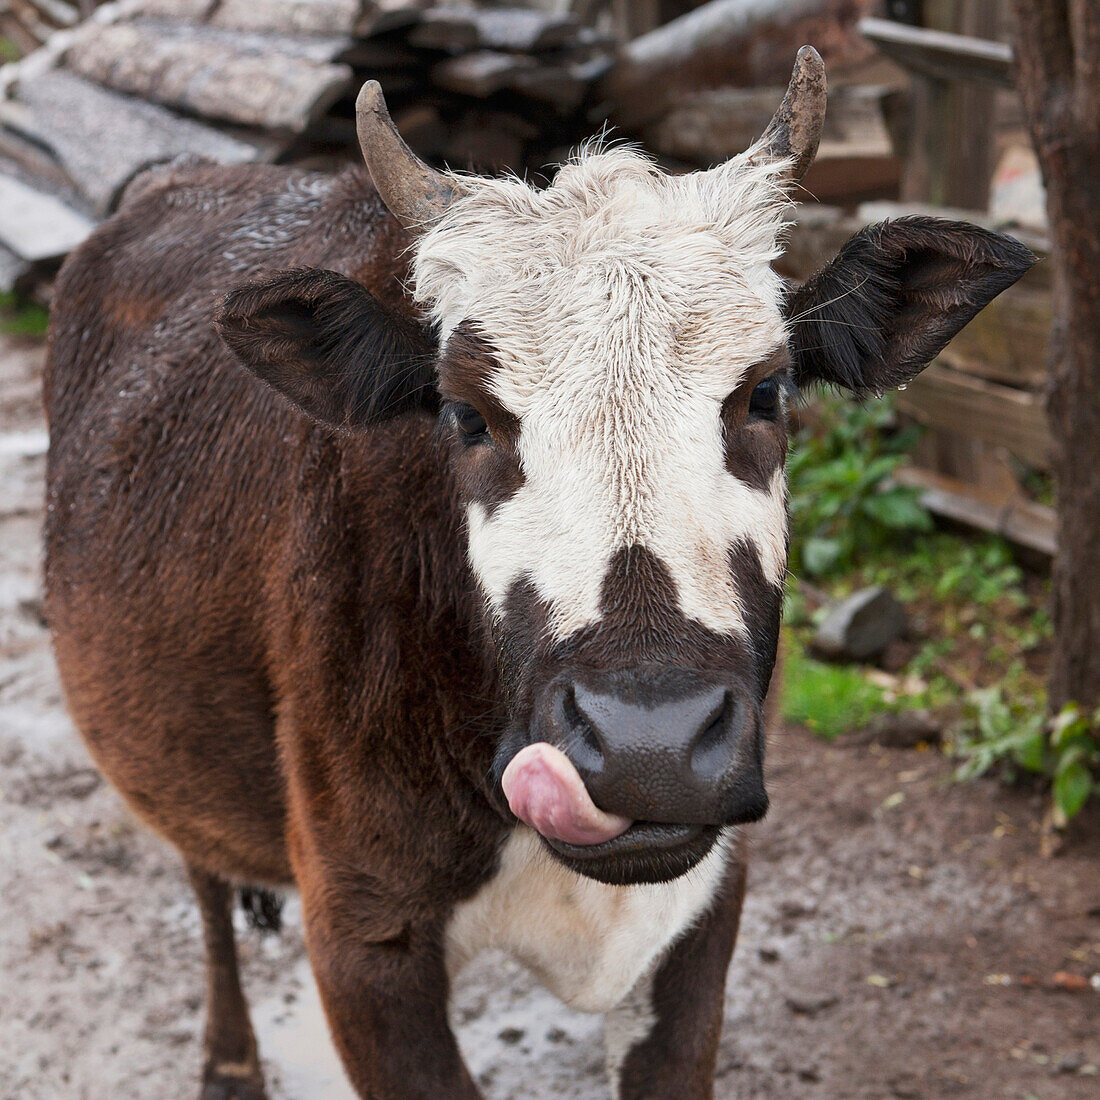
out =
<path fill-rule="evenodd" d="M 256 1040 L 241 990 L 233 938 L 232 890 L 222 879 L 188 866 L 202 913 L 206 944 L 207 1026 L 200 1100 L 265 1100 Z"/>

